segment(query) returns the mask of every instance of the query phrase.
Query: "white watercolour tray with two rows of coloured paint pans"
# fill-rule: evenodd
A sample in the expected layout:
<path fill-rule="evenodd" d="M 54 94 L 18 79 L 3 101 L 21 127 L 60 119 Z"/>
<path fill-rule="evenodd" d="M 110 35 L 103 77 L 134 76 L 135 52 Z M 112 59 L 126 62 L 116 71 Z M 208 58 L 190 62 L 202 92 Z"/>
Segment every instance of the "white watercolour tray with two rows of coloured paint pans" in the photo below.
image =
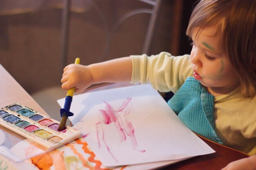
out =
<path fill-rule="evenodd" d="M 59 124 L 20 103 L 0 109 L 0 125 L 51 150 L 81 137 L 81 132 L 70 126 L 59 131 Z"/>

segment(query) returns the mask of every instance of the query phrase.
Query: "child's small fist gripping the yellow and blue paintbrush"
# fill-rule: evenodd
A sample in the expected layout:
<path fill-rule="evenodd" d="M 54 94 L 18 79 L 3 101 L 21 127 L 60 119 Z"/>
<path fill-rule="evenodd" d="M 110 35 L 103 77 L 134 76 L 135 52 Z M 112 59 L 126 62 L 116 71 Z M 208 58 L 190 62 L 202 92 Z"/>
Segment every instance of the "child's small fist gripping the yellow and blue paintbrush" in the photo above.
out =
<path fill-rule="evenodd" d="M 88 66 L 70 64 L 64 68 L 61 82 L 64 90 L 75 87 L 75 93 L 81 93 L 92 85 L 93 78 Z"/>

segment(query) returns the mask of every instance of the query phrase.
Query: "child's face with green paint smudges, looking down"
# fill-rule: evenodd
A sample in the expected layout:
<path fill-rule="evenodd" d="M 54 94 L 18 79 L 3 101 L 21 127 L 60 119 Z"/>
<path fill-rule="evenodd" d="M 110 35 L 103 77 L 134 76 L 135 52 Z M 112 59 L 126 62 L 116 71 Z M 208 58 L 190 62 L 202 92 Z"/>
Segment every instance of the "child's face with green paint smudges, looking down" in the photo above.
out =
<path fill-rule="evenodd" d="M 239 79 L 227 55 L 222 52 L 221 33 L 216 32 L 215 27 L 207 27 L 195 39 L 198 30 L 199 28 L 195 28 L 192 34 L 193 76 L 208 90 L 229 93 L 238 86 Z"/>

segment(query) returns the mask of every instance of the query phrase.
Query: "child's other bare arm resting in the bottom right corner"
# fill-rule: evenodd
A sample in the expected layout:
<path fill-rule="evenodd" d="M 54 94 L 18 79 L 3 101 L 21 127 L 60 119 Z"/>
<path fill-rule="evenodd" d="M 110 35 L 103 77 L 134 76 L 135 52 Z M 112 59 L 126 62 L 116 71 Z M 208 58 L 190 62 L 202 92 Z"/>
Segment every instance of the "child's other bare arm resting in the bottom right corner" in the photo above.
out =
<path fill-rule="evenodd" d="M 231 162 L 221 170 L 256 170 L 256 155 Z"/>

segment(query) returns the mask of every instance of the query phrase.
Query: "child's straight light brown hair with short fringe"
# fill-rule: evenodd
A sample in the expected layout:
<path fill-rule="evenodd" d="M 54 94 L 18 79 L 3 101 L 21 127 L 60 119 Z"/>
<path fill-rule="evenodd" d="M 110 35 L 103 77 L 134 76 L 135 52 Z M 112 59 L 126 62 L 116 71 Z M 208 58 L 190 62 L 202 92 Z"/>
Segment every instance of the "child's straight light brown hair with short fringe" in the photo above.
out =
<path fill-rule="evenodd" d="M 222 51 L 240 78 L 242 95 L 249 98 L 256 95 L 255 20 L 256 0 L 201 0 L 193 9 L 186 31 L 191 37 L 195 27 L 202 31 L 217 26 L 222 34 Z"/>

